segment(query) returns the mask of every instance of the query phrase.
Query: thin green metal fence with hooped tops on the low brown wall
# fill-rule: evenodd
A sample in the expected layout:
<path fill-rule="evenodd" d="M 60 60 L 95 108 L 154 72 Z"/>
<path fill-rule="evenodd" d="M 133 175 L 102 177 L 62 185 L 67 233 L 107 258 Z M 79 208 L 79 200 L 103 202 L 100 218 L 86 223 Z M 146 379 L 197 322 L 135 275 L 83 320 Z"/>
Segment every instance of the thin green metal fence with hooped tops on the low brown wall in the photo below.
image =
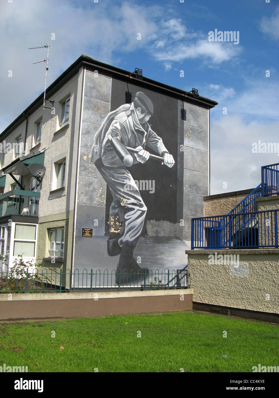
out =
<path fill-rule="evenodd" d="M 123 291 L 150 289 L 187 289 L 188 275 L 184 270 L 150 270 L 139 273 L 93 270 L 74 270 L 62 272 L 62 269 L 28 268 L 20 273 L 12 268 L 2 271 L 0 268 L 0 293 L 62 293 L 69 291 Z"/>

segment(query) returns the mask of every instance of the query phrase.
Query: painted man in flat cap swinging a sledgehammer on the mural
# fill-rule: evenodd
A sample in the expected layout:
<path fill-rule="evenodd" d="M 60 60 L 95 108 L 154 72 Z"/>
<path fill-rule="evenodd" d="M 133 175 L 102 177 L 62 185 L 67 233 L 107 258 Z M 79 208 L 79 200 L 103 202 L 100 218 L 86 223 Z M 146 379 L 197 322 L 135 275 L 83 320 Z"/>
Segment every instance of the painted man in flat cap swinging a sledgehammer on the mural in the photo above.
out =
<path fill-rule="evenodd" d="M 133 272 L 142 275 L 145 270 L 148 272 L 147 268 L 140 268 L 133 257 L 147 209 L 127 167 L 152 158 L 168 167 L 174 165 L 173 156 L 147 123 L 152 115 L 152 101 L 143 92 L 137 92 L 131 104 L 121 105 L 107 115 L 92 146 L 91 162 L 98 168 L 113 197 L 109 216 L 119 224 L 122 222 L 120 232 L 111 232 L 107 241 L 108 255 L 120 254 L 116 283 L 119 283 L 120 270 L 121 284 L 129 283 Z M 151 155 L 145 146 L 160 156 Z"/>

